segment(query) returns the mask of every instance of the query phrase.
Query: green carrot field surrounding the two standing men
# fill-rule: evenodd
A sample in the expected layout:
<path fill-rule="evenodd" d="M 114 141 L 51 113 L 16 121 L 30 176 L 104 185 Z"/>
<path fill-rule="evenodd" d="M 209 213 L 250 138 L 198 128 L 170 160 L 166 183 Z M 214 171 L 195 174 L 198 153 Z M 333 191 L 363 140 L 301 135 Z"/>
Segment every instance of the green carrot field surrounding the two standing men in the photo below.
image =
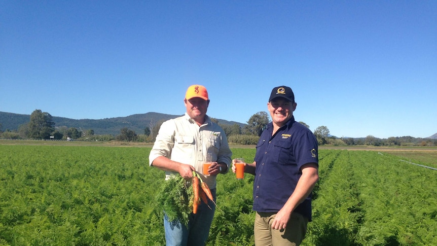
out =
<path fill-rule="evenodd" d="M 165 245 L 150 147 L 0 145 L 0 245 Z M 253 148 L 232 149 L 253 161 Z M 303 245 L 437 245 L 437 150 L 319 150 Z M 253 176 L 218 176 L 207 245 L 253 245 Z M 280 185 L 280 184 L 279 184 Z"/>

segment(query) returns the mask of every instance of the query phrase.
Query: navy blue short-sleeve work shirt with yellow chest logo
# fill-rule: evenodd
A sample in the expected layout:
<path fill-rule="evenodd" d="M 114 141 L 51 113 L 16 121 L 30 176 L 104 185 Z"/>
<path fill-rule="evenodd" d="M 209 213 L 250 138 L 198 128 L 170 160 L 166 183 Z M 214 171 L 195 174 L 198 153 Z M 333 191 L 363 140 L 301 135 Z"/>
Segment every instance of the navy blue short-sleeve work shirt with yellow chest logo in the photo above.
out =
<path fill-rule="evenodd" d="M 318 165 L 317 139 L 306 126 L 292 117 L 273 133 L 273 123 L 261 134 L 254 161 L 253 207 L 257 212 L 278 212 L 298 184 L 307 163 Z M 311 221 L 311 194 L 294 212 Z"/>

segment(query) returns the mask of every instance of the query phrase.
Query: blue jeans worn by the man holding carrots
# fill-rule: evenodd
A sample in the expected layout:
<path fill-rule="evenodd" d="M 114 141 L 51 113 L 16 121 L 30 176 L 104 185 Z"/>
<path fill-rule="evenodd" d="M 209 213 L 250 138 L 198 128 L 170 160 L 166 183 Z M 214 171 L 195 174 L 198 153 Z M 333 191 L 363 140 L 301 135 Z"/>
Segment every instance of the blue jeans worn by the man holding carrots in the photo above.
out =
<path fill-rule="evenodd" d="M 211 190 L 215 202 L 215 189 Z M 208 207 L 209 205 L 209 207 Z M 165 241 L 167 246 L 205 245 L 209 235 L 215 205 L 208 199 L 208 205 L 200 202 L 197 214 L 191 214 L 188 226 L 179 221 L 168 221 L 164 212 Z"/>

